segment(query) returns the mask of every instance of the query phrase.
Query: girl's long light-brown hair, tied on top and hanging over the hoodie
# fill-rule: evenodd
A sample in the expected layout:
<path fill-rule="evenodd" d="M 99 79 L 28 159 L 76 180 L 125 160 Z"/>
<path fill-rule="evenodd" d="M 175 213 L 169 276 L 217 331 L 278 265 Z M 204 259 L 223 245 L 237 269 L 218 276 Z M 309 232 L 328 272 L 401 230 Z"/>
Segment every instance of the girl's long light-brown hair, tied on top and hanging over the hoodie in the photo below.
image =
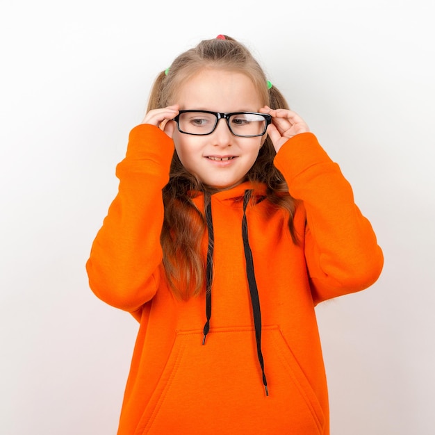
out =
<path fill-rule="evenodd" d="M 147 111 L 174 104 L 182 83 L 204 68 L 241 72 L 252 80 L 265 105 L 270 108 L 288 108 L 281 92 L 274 86 L 268 88 L 263 69 L 249 50 L 240 42 L 225 36 L 224 39 L 199 42 L 197 47 L 180 54 L 166 72 L 161 72 L 151 89 Z M 288 212 L 288 226 L 296 241 L 293 230 L 295 201 L 288 194 L 284 177 L 274 167 L 275 155 L 272 140 L 268 137 L 260 148 L 254 165 L 246 174 L 246 181 L 265 184 L 269 202 Z M 192 192 L 204 192 L 207 201 L 213 190 L 204 186 L 201 180 L 183 167 L 175 151 L 170 167 L 170 181 L 163 188 L 165 217 L 161 245 L 167 281 L 173 293 L 182 298 L 198 295 L 205 288 L 202 240 L 206 221 L 204 213 L 192 202 Z"/>

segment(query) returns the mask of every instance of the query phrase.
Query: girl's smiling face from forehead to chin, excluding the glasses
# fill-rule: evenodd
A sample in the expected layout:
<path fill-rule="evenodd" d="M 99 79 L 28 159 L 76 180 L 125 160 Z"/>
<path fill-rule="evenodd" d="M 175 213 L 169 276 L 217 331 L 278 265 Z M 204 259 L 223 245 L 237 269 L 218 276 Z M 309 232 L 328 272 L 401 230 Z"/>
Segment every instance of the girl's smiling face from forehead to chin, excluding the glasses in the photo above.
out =
<path fill-rule="evenodd" d="M 258 112 L 263 102 L 252 81 L 239 72 L 204 69 L 183 83 L 177 99 L 180 110 Z M 254 165 L 264 136 L 240 138 L 219 120 L 207 136 L 192 136 L 174 129 L 175 149 L 186 170 L 207 186 L 228 189 L 240 184 Z"/>

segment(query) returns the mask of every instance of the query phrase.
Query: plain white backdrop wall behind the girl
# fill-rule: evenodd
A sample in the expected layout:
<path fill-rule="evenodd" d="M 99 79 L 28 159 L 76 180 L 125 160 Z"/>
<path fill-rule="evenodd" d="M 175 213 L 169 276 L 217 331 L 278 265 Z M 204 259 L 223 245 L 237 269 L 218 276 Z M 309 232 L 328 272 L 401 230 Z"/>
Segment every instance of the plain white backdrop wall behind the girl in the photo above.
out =
<path fill-rule="evenodd" d="M 115 434 L 138 325 L 85 261 L 152 81 L 220 33 L 339 163 L 384 249 L 374 286 L 316 309 L 331 434 L 433 434 L 433 17 L 429 0 L 1 0 L 0 434 Z"/>

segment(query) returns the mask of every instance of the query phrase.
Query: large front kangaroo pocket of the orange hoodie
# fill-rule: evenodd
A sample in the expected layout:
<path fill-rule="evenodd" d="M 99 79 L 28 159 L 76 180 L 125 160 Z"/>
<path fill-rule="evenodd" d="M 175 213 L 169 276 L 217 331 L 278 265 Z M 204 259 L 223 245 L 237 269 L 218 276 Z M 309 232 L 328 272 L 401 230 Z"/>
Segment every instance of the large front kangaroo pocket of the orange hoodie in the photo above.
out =
<path fill-rule="evenodd" d="M 322 407 L 278 327 L 263 327 L 265 395 L 251 327 L 179 331 L 136 435 L 322 434 Z"/>

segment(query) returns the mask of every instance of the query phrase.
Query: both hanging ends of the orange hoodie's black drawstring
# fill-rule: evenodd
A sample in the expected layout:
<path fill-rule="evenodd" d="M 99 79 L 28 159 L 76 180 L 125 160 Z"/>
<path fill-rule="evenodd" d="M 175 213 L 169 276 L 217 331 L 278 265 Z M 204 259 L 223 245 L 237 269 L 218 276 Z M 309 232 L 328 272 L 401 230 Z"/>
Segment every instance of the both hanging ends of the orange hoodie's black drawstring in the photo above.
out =
<path fill-rule="evenodd" d="M 269 395 L 268 381 L 266 380 L 264 372 L 263 353 L 261 352 L 261 311 L 260 311 L 260 299 L 258 297 L 258 289 L 256 285 L 254 262 L 252 260 L 252 251 L 249 247 L 247 220 L 246 220 L 246 208 L 251 198 L 252 190 L 245 190 L 243 197 L 243 220 L 242 220 L 242 236 L 243 247 L 245 249 L 246 259 L 246 274 L 249 285 L 249 293 L 251 295 L 252 311 L 254 313 L 254 327 L 255 327 L 255 339 L 258 354 L 258 362 L 261 366 L 261 372 L 263 374 L 263 385 L 266 396 Z M 211 283 L 213 281 L 213 249 L 214 249 L 214 233 L 213 233 L 213 219 L 211 216 L 211 199 L 208 198 L 205 208 L 206 224 L 208 229 L 208 248 L 207 248 L 207 262 L 206 262 L 206 324 L 204 325 L 204 338 L 202 344 L 206 343 L 206 336 L 210 331 L 210 318 L 211 318 Z"/>

